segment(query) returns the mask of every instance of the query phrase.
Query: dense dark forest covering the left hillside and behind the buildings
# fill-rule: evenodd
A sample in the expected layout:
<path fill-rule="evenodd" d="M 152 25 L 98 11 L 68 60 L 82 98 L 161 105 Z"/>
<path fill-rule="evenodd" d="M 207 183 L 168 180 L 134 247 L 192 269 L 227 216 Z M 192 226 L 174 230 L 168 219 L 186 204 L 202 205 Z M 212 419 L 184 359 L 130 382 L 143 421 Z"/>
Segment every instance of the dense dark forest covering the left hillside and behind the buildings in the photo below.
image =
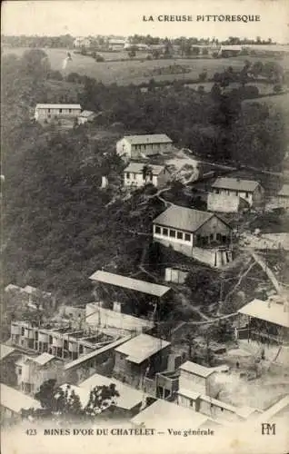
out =
<path fill-rule="evenodd" d="M 88 278 L 96 269 L 137 271 L 164 204 L 149 196 L 152 188 L 132 197 L 122 192 L 115 124 L 118 137 L 167 133 L 176 145 L 214 161 L 278 169 L 284 157 L 282 116 L 262 104 L 244 110 L 240 96 L 222 94 L 218 84 L 208 94 L 177 82 L 159 89 L 151 84 L 142 93 L 134 85 L 106 86 L 74 74 L 55 81 L 41 50 L 9 54 L 2 68 L 4 284 L 39 286 L 76 304 L 90 299 Z M 35 104 L 47 101 L 77 101 L 102 113 L 95 127 L 106 139 L 92 140 L 86 126 L 62 131 L 35 123 Z M 102 175 L 110 182 L 105 190 Z"/>

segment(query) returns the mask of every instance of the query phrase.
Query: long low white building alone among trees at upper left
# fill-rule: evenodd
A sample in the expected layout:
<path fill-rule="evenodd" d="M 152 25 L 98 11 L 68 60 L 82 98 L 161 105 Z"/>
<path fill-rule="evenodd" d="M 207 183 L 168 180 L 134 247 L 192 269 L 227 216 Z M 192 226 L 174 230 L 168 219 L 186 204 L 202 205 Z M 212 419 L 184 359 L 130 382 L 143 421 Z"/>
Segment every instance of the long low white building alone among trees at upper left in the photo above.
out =
<path fill-rule="evenodd" d="M 35 120 L 54 118 L 77 118 L 81 114 L 80 104 L 36 104 Z"/>

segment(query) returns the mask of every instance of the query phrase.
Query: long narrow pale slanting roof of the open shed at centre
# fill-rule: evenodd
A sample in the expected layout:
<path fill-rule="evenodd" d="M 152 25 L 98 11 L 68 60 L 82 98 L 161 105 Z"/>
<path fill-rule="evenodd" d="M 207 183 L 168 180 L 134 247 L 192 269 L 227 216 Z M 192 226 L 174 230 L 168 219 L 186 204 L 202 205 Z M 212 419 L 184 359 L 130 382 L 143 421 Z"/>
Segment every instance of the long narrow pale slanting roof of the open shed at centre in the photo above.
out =
<path fill-rule="evenodd" d="M 138 279 L 127 278 L 126 276 L 121 276 L 120 274 L 114 274 L 112 272 L 101 270 L 95 271 L 89 279 L 92 281 L 115 285 L 116 287 L 123 287 L 124 289 L 140 291 L 141 293 L 157 297 L 162 297 L 165 293 L 167 293 L 167 291 L 171 290 L 170 287 L 165 287 L 164 285 L 139 281 Z"/>

